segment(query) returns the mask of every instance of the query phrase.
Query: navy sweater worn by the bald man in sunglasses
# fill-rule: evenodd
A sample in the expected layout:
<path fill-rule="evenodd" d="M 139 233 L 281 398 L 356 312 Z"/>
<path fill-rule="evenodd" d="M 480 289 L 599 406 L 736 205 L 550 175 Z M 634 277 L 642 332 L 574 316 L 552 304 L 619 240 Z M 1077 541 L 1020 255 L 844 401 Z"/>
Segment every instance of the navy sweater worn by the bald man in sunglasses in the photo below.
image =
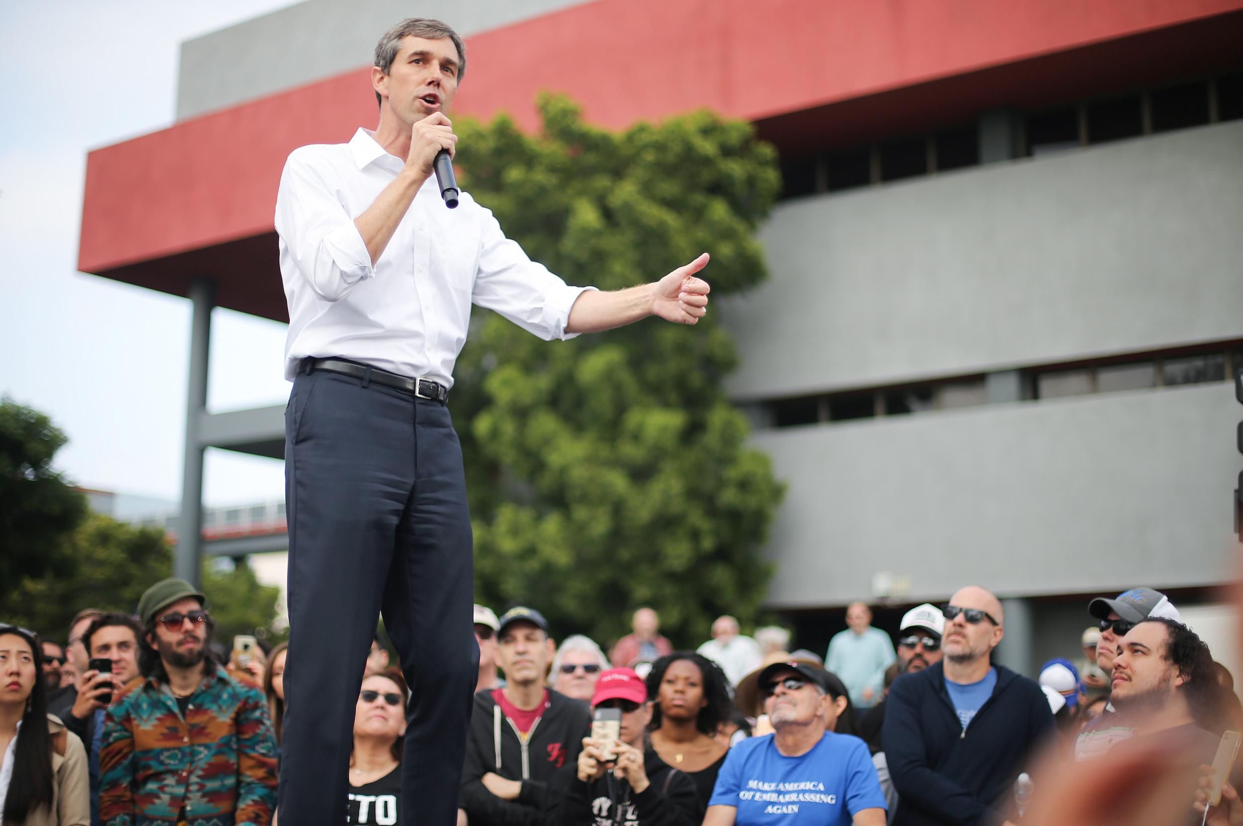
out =
<path fill-rule="evenodd" d="M 1055 730 L 1037 682 L 993 667 L 997 686 L 966 730 L 942 663 L 894 681 L 883 739 L 900 799 L 895 826 L 976 826 L 1008 816 L 1014 780 Z"/>

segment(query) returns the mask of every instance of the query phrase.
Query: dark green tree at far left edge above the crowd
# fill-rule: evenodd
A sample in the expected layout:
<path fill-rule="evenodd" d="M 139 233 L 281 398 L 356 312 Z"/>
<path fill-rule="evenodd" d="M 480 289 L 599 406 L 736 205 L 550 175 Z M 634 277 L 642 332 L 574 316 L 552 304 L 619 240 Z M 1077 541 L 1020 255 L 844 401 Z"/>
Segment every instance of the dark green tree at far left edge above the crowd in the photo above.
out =
<path fill-rule="evenodd" d="M 26 576 L 73 566 L 66 538 L 86 518 L 86 497 L 52 467 L 68 438 L 44 414 L 0 399 L 0 616 Z"/>

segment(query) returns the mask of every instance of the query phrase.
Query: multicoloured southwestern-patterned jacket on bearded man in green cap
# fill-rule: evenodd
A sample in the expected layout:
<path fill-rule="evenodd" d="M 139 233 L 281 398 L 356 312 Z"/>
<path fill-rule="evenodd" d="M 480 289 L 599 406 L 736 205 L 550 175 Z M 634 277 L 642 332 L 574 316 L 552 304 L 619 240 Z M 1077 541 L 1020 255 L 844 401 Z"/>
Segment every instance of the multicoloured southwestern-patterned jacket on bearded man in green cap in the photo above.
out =
<path fill-rule="evenodd" d="M 276 735 L 264 693 L 208 665 L 183 719 L 168 684 L 131 681 L 108 707 L 99 747 L 106 826 L 267 826 Z"/>

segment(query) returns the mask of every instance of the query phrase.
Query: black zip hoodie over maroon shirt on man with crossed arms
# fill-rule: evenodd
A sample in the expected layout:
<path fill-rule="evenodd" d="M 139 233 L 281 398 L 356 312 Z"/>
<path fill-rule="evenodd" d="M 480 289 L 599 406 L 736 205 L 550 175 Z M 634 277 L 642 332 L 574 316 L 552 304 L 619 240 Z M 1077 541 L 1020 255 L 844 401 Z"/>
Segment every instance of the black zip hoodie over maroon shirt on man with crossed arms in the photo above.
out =
<path fill-rule="evenodd" d="M 466 810 L 471 826 L 534 826 L 548 780 L 557 769 L 577 765 L 583 738 L 590 733 L 587 703 L 548 689 L 548 708 L 518 737 L 491 689 L 475 694 L 475 707 L 466 735 L 466 761 L 457 805 Z M 488 771 L 507 780 L 521 780 L 517 800 L 501 800 L 484 786 Z"/>

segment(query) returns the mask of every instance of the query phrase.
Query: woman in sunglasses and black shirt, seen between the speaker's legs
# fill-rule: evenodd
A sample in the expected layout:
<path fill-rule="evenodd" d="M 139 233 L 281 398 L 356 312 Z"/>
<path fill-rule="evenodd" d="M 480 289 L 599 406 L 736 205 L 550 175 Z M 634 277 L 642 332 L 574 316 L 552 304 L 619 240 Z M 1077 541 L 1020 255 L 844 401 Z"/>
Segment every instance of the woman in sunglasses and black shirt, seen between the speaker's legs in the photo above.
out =
<path fill-rule="evenodd" d="M 354 708 L 354 750 L 349 755 L 351 824 L 400 822 L 408 697 L 405 677 L 398 668 L 385 668 L 363 681 Z"/>

